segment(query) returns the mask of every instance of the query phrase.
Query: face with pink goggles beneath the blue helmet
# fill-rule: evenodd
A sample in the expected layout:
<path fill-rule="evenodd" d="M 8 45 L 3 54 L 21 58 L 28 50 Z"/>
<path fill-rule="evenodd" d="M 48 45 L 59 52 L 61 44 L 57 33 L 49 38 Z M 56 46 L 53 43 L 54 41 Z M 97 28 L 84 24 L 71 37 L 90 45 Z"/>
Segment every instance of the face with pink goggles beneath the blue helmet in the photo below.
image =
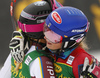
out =
<path fill-rule="evenodd" d="M 62 36 L 55 33 L 51 29 L 44 25 L 44 38 L 46 40 L 46 46 L 51 50 L 61 49 L 62 47 Z"/>

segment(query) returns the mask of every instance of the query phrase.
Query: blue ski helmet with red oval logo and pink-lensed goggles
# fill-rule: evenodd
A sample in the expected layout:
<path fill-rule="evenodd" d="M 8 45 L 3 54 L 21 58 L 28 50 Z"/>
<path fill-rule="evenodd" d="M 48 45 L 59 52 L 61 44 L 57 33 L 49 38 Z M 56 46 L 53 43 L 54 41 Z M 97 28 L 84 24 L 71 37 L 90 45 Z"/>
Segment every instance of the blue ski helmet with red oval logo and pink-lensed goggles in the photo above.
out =
<path fill-rule="evenodd" d="M 53 42 L 62 42 L 62 49 L 78 45 L 86 36 L 89 22 L 85 14 L 74 7 L 60 7 L 49 14 L 44 25 L 45 37 Z"/>

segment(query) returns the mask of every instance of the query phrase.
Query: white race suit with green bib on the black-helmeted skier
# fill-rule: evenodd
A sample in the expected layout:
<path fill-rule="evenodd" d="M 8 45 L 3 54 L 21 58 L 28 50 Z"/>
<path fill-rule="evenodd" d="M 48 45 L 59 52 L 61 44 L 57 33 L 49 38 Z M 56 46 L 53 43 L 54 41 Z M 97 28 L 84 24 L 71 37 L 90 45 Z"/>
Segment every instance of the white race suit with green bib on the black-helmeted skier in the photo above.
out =
<path fill-rule="evenodd" d="M 3 76 L 0 72 L 0 78 L 55 78 L 54 66 L 51 60 L 44 54 L 36 52 L 35 46 L 31 46 L 27 52 L 18 72 L 14 71 L 16 62 L 11 55 L 6 61 L 11 63 L 4 65 L 3 69 L 5 71 L 2 72 L 4 73 Z M 6 68 L 9 70 L 6 70 Z"/>

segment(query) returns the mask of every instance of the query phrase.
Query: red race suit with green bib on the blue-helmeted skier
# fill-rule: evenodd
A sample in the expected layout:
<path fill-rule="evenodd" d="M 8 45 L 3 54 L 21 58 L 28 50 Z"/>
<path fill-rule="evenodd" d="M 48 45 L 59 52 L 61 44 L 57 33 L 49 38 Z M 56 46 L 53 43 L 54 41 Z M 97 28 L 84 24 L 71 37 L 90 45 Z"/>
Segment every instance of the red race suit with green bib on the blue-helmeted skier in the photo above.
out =
<path fill-rule="evenodd" d="M 81 47 L 60 55 L 52 55 L 57 78 L 80 78 L 85 57 L 88 57 L 90 63 L 92 62 L 93 57 Z"/>

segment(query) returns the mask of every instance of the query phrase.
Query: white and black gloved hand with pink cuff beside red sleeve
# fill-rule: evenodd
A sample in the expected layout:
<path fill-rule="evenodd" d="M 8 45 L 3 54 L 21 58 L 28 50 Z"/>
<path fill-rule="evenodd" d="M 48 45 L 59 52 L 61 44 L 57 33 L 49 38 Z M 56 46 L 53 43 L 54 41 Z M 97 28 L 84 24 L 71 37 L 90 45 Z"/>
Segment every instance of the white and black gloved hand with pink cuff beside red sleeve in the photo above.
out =
<path fill-rule="evenodd" d="M 86 57 L 80 78 L 100 78 L 100 62 L 93 58 L 93 62 L 90 65 L 89 59 Z"/>

